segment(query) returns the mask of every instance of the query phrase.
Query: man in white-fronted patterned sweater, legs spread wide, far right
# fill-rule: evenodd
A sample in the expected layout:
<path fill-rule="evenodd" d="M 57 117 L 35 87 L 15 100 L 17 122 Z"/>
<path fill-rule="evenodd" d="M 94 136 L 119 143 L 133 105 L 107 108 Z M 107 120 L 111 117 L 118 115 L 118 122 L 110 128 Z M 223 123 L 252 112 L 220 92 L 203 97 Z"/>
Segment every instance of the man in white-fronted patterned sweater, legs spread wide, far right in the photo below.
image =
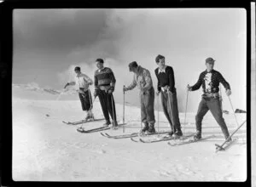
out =
<path fill-rule="evenodd" d="M 198 106 L 198 111 L 195 116 L 195 126 L 196 126 L 196 134 L 195 139 L 201 139 L 201 122 L 203 117 L 207 114 L 207 111 L 212 112 L 212 116 L 214 116 L 215 120 L 218 122 L 218 125 L 221 127 L 222 133 L 224 133 L 225 139 L 228 139 L 230 136 L 228 127 L 224 122 L 223 112 L 221 111 L 221 105 L 219 100 L 219 82 L 224 85 L 226 89 L 226 94 L 230 96 L 230 84 L 225 81 L 224 77 L 218 72 L 213 70 L 214 59 L 207 58 L 206 66 L 207 70 L 202 71 L 198 81 L 194 86 L 190 87 L 188 85 L 189 91 L 195 91 L 199 88 L 203 89 L 203 94 L 201 96 L 201 102 Z M 231 139 L 229 139 L 231 141 Z"/>

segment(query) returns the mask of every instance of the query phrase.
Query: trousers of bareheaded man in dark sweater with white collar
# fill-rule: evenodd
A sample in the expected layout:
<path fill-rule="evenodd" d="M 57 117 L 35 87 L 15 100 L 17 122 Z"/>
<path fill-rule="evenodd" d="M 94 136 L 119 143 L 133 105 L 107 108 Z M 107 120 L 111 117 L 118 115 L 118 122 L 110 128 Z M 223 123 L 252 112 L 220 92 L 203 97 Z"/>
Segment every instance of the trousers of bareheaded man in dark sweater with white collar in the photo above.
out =
<path fill-rule="evenodd" d="M 163 111 L 165 113 L 165 116 L 170 123 L 172 132 L 175 133 L 177 131 L 180 131 L 181 125 L 179 122 L 179 116 L 178 116 L 178 109 L 177 109 L 177 93 L 174 91 L 174 93 L 166 91 L 163 92 L 161 90 L 161 101 L 163 106 Z"/>

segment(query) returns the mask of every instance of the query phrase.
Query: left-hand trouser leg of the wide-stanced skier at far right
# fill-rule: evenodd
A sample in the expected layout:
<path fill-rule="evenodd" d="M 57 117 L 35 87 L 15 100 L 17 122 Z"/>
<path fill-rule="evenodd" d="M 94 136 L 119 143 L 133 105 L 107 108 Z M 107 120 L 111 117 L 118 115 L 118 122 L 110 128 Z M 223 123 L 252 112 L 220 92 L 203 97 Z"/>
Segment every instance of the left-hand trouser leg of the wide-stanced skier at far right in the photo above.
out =
<path fill-rule="evenodd" d="M 201 122 L 203 117 L 207 114 L 207 111 L 209 111 L 207 101 L 205 99 L 201 99 L 195 116 L 195 127 L 198 133 L 201 133 Z"/>

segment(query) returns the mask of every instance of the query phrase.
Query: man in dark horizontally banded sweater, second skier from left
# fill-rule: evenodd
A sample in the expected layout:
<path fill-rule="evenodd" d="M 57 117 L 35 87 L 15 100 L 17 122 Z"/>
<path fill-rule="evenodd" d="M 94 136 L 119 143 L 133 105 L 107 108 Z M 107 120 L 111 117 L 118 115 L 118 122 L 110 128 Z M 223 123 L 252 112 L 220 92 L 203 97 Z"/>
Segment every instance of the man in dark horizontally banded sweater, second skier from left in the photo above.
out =
<path fill-rule="evenodd" d="M 109 120 L 108 113 L 110 114 L 113 121 L 113 128 L 118 126 L 116 121 L 115 104 L 113 100 L 113 91 L 115 86 L 115 77 L 113 71 L 104 67 L 103 59 L 96 59 L 96 67 L 98 70 L 95 71 L 95 93 L 94 96 L 99 96 L 100 103 L 102 105 L 102 112 L 106 122 L 103 124 L 104 127 L 108 127 L 111 122 Z"/>

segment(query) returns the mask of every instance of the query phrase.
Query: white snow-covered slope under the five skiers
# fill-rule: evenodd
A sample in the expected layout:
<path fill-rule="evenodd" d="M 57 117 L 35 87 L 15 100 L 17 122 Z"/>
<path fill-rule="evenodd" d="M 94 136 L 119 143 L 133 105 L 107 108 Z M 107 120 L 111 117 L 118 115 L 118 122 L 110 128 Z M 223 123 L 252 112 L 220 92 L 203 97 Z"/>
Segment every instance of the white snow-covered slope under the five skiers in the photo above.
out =
<path fill-rule="evenodd" d="M 40 90 L 40 91 L 38 91 Z M 100 133 L 78 133 L 77 126 L 62 121 L 84 118 L 79 96 L 13 87 L 13 178 L 15 181 L 245 181 L 247 179 L 246 124 L 230 149 L 215 153 L 214 144 L 224 136 L 209 112 L 203 121 L 202 136 L 215 137 L 194 144 L 172 147 L 167 141 L 143 144 L 130 139 L 108 139 Z M 67 99 L 69 98 L 69 99 Z M 72 98 L 72 99 L 70 99 Z M 161 106 L 160 106 L 161 107 Z M 116 104 L 119 123 L 123 105 Z M 156 109 L 155 109 L 156 110 Z M 98 99 L 96 118 L 103 118 Z M 46 116 L 49 115 L 49 116 Z M 236 114 L 238 122 L 246 114 Z M 155 111 L 157 120 L 157 111 Z M 232 113 L 224 114 L 230 133 L 236 129 Z M 183 123 L 184 114 L 180 113 Z M 195 133 L 195 113 L 188 113 L 183 133 Z M 102 122 L 84 123 L 84 128 L 100 127 Z M 125 122 L 109 134 L 137 132 L 140 109 L 125 106 Z M 158 122 L 155 124 L 158 129 Z M 160 112 L 160 130 L 170 129 Z"/>

